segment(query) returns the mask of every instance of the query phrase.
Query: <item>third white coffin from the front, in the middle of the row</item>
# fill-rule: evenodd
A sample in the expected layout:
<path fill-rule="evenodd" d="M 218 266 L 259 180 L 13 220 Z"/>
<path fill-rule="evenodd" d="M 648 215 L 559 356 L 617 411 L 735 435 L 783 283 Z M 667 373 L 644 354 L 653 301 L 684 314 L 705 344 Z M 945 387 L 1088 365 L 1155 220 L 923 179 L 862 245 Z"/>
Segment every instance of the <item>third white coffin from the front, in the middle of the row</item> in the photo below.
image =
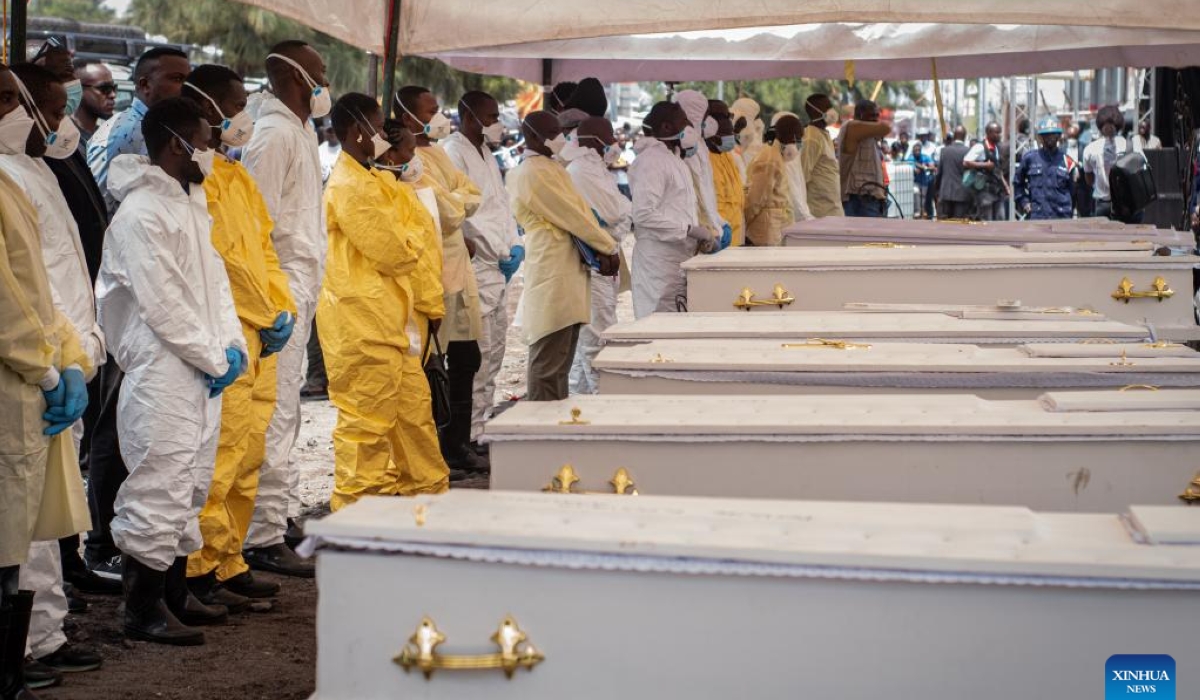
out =
<path fill-rule="evenodd" d="M 1048 389 L 1200 388 L 1184 345 L 976 345 L 806 339 L 655 340 L 610 345 L 593 361 L 601 394 L 974 394 L 1037 399 Z"/>

